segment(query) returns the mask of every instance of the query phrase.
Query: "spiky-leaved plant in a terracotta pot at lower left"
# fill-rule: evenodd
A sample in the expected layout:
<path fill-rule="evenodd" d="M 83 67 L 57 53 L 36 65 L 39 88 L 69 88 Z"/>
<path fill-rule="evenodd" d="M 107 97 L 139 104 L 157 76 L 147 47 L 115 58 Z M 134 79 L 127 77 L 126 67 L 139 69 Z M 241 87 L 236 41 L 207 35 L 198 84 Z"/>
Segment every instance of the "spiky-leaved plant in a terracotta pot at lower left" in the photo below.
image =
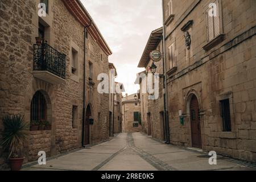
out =
<path fill-rule="evenodd" d="M 20 115 L 7 115 L 3 118 L 3 126 L 3 149 L 9 150 L 11 170 L 19 171 L 24 160 L 22 150 L 28 134 L 28 124 Z"/>

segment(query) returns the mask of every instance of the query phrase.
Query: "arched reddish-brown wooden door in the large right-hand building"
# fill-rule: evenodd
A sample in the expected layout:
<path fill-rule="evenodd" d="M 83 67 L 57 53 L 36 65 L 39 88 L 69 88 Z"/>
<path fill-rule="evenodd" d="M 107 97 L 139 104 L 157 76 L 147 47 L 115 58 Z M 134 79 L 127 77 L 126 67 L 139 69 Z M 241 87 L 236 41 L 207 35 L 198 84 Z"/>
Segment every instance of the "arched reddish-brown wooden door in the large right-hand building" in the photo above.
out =
<path fill-rule="evenodd" d="M 189 110 L 191 117 L 192 147 L 202 148 L 199 102 L 195 94 L 191 97 Z"/>

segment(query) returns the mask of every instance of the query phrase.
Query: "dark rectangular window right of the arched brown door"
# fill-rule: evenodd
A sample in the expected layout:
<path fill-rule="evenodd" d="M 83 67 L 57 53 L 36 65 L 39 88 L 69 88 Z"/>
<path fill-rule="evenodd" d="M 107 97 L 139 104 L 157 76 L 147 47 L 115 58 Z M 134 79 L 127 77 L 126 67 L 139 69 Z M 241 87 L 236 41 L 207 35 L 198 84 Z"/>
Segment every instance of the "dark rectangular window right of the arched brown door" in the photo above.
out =
<path fill-rule="evenodd" d="M 223 131 L 231 131 L 229 99 L 220 101 Z"/>

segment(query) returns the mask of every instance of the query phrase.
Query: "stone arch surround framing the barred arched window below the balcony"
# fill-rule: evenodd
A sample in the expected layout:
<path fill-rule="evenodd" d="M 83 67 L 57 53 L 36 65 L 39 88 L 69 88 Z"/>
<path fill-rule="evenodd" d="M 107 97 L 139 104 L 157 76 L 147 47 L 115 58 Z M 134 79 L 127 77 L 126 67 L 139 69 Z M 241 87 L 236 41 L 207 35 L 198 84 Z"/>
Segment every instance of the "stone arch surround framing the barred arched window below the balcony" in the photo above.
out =
<path fill-rule="evenodd" d="M 29 84 L 27 86 L 27 89 L 24 93 L 25 99 L 24 99 L 24 105 L 25 105 L 25 111 L 24 111 L 24 119 L 27 122 L 30 122 L 30 109 L 31 109 L 31 101 L 32 98 L 34 96 L 34 94 L 40 91 L 46 101 L 47 101 L 47 118 L 48 121 L 51 122 L 51 131 L 50 135 L 51 135 L 51 140 L 50 140 L 50 155 L 55 155 L 56 154 L 56 148 L 55 148 L 55 135 L 56 135 L 56 118 L 55 118 L 55 110 L 56 110 L 56 99 L 55 99 L 55 93 L 53 91 L 53 85 L 42 81 L 42 80 L 38 80 L 36 78 L 34 78 L 32 80 L 32 84 Z M 31 132 L 30 132 L 30 136 L 31 137 Z M 27 143 L 26 146 L 24 146 L 25 148 L 29 148 L 29 144 L 30 142 Z M 25 150 L 25 153 L 28 154 L 28 151 Z"/>

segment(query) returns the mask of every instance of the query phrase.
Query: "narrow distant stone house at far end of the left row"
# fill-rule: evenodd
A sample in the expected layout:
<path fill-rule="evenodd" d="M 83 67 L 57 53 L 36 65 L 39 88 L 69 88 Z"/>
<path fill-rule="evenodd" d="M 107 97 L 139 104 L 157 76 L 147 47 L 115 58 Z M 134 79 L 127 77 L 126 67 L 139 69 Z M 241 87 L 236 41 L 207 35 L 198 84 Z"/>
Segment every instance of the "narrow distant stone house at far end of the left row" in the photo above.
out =
<path fill-rule="evenodd" d="M 115 88 L 123 91 L 123 84 L 115 82 Z M 122 93 L 115 92 L 114 96 L 114 134 L 122 133 Z"/>

